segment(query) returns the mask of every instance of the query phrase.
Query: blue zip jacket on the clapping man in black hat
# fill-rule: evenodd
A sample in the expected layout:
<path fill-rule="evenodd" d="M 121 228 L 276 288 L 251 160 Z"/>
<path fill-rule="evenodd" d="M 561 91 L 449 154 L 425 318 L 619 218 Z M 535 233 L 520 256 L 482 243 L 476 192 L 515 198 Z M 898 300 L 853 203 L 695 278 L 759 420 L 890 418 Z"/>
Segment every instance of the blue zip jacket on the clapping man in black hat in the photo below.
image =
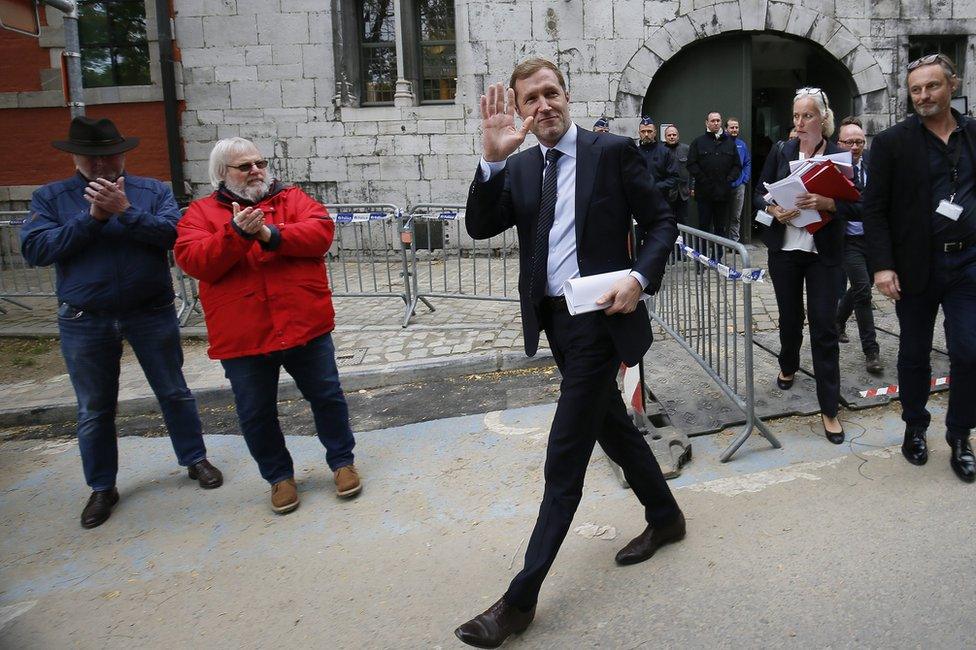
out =
<path fill-rule="evenodd" d="M 176 241 L 180 210 L 173 192 L 151 178 L 125 175 L 131 207 L 106 222 L 89 214 L 81 174 L 34 192 L 20 231 L 32 266 L 55 265 L 58 300 L 124 314 L 173 300 L 166 251 Z"/>

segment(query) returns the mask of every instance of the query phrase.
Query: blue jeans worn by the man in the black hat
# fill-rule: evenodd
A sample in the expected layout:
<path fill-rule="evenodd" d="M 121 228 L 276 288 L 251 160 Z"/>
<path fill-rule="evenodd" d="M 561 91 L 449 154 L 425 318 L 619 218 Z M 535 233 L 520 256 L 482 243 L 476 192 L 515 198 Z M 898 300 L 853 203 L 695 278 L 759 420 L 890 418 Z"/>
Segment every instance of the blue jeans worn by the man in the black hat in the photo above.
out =
<path fill-rule="evenodd" d="M 197 402 L 183 378 L 180 327 L 172 302 L 121 316 L 62 304 L 58 329 L 61 352 L 78 398 L 81 464 L 92 490 L 115 487 L 119 470 L 115 411 L 122 339 L 132 346 L 159 400 L 180 465 L 193 465 L 207 457 Z"/>

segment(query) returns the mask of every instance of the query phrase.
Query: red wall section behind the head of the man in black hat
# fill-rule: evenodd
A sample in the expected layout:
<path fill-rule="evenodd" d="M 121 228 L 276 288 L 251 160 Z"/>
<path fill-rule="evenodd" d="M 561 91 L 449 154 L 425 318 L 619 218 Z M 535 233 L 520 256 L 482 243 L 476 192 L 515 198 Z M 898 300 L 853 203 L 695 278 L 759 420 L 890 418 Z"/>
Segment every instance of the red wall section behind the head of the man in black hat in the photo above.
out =
<path fill-rule="evenodd" d="M 86 114 L 107 117 L 123 136 L 140 139 L 139 146 L 126 154 L 128 171 L 170 180 L 162 102 L 93 105 Z M 0 165 L 0 185 L 41 185 L 71 175 L 71 154 L 51 146 L 52 140 L 67 139 L 70 122 L 67 108 L 0 110 L 0 151 L 9 161 Z"/>

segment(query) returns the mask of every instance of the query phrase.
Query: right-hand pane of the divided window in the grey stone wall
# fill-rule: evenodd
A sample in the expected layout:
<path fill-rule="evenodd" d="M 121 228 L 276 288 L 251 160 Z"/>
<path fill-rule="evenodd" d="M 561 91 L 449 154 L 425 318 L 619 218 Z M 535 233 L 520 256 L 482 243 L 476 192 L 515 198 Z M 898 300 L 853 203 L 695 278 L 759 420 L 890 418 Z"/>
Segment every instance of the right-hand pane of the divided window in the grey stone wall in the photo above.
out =
<path fill-rule="evenodd" d="M 453 101 L 457 89 L 457 45 L 453 0 L 417 1 L 420 45 L 420 101 Z"/>

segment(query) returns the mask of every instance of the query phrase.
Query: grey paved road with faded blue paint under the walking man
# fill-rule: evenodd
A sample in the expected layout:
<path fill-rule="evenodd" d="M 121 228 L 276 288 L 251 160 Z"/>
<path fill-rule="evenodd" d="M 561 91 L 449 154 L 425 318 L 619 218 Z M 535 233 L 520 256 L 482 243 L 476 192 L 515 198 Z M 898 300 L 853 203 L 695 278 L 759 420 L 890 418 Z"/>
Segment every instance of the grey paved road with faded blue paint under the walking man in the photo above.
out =
<path fill-rule="evenodd" d="M 552 410 L 361 433 L 352 502 L 317 441 L 290 437 L 303 503 L 285 517 L 237 436 L 208 437 L 227 475 L 210 492 L 166 439 L 123 438 L 123 500 L 92 531 L 72 441 L 0 443 L 0 646 L 461 647 L 453 628 L 518 570 Z M 640 509 L 594 454 L 574 526 L 615 537 L 569 536 L 506 647 L 972 647 L 973 486 L 938 440 L 927 466 L 901 459 L 897 406 L 847 418 L 851 445 L 789 418 L 783 450 L 753 439 L 728 464 L 728 434 L 696 438 L 672 483 L 687 540 L 627 568 L 612 558 Z"/>

